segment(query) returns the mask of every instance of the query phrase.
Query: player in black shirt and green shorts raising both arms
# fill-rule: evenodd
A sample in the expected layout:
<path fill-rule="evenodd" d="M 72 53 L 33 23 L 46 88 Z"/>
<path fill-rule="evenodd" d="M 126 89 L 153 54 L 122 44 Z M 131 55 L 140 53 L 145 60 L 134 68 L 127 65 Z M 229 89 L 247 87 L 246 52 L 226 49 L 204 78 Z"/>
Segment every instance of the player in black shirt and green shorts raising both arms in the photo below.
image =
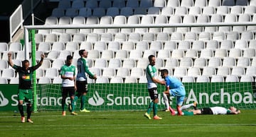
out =
<path fill-rule="evenodd" d="M 13 61 L 11 60 L 11 52 L 8 53 L 8 62 L 9 65 L 14 68 L 18 72 L 18 111 L 21 114 L 21 122 L 25 123 L 25 115 L 23 112 L 23 102 L 28 102 L 26 112 L 27 122 L 33 124 L 31 120 L 31 112 L 32 112 L 32 105 L 33 105 L 33 92 L 32 92 L 32 78 L 33 78 L 33 71 L 36 71 L 43 64 L 44 54 L 41 54 L 41 60 L 39 61 L 36 66 L 29 67 L 29 61 L 24 60 L 22 61 L 22 66 L 16 66 Z"/>

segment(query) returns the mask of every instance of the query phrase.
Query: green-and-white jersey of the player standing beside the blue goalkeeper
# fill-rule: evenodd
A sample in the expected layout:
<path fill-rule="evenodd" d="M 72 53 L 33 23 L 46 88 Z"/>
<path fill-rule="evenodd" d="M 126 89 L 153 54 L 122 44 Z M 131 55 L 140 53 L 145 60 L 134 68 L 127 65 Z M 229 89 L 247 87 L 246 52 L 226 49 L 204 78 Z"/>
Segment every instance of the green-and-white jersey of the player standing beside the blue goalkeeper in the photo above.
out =
<path fill-rule="evenodd" d="M 157 71 L 155 66 L 151 66 L 150 64 L 146 67 L 146 79 L 148 81 L 148 89 L 157 88 L 156 83 L 152 80 L 152 78 L 157 76 Z"/>

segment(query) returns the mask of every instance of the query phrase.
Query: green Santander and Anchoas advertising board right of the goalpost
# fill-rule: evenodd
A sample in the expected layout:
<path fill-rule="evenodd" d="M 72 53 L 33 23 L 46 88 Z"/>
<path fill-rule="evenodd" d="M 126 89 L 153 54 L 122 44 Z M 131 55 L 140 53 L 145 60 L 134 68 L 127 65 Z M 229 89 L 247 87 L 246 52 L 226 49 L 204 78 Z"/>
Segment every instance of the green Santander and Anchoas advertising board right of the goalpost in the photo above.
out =
<path fill-rule="evenodd" d="M 255 83 L 184 83 L 186 100 L 184 104 L 198 102 L 200 107 L 238 107 L 255 109 Z M 150 97 L 146 83 L 90 83 L 85 108 L 91 111 L 143 111 Z M 159 85 L 159 110 L 165 109 Z M 171 98 L 171 107 L 176 107 L 176 97 Z M 68 100 L 66 104 L 68 105 Z M 76 110 L 80 109 L 80 100 Z M 61 85 L 38 85 L 38 110 L 61 110 Z"/>

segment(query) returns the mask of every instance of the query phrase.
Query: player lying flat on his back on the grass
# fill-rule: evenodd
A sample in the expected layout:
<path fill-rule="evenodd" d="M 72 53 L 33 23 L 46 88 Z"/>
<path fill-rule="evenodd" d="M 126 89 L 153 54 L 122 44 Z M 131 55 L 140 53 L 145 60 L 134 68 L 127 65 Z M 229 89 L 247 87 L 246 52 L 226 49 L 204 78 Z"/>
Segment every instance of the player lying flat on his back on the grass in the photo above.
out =
<path fill-rule="evenodd" d="M 176 114 L 178 112 L 175 112 Z M 235 107 L 203 107 L 201 109 L 191 109 L 183 111 L 184 116 L 196 115 L 196 114 L 240 114 L 241 111 Z"/>

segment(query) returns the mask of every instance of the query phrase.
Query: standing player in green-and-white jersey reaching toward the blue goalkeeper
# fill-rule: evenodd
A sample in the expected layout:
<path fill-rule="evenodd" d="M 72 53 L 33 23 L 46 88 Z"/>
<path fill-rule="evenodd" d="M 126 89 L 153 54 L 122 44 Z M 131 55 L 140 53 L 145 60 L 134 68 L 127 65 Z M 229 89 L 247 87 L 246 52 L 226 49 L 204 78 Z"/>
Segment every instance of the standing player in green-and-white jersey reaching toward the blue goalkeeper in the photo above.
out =
<path fill-rule="evenodd" d="M 147 87 L 149 90 L 149 96 L 151 98 L 151 102 L 149 103 L 149 108 L 147 109 L 144 116 L 148 119 L 151 119 L 149 113 L 151 109 L 153 109 L 154 117 L 153 119 L 162 119 L 161 117 L 157 116 L 157 103 L 159 102 L 158 93 L 157 93 L 157 83 L 164 85 L 165 81 L 160 81 L 156 78 L 157 70 L 154 66 L 156 64 L 156 58 L 154 55 L 149 56 L 149 65 L 146 67 L 146 79 L 148 81 Z"/>

